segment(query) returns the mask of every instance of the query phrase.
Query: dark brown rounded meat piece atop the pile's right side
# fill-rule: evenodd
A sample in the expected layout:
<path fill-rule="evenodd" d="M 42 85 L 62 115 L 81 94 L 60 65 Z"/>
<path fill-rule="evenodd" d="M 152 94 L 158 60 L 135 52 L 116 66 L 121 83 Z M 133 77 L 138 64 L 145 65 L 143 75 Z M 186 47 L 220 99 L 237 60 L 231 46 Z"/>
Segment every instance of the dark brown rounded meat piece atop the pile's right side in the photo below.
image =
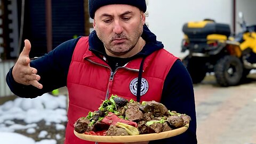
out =
<path fill-rule="evenodd" d="M 156 101 L 146 101 L 146 105 L 141 108 L 145 113 L 151 112 L 156 117 L 169 115 L 168 109 L 162 103 Z"/>

